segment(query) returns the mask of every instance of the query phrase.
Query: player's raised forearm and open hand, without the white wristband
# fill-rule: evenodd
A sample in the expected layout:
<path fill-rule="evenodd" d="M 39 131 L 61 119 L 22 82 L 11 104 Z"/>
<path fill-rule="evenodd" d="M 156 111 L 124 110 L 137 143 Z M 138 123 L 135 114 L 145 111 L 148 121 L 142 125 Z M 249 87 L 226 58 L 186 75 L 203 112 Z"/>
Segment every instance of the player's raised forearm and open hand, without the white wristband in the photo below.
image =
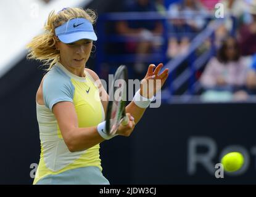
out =
<path fill-rule="evenodd" d="M 141 81 L 140 94 L 142 95 L 142 97 L 152 98 L 153 95 L 155 95 L 157 91 L 162 88 L 163 84 L 168 78 L 168 69 L 165 69 L 162 73 L 159 74 L 162 66 L 162 63 L 159 63 L 159 65 L 157 65 L 156 68 L 154 64 L 149 65 L 149 68 L 147 69 L 147 74 Z M 160 79 L 160 86 L 158 86 L 157 84 L 157 79 Z M 153 80 L 152 83 L 149 83 L 149 80 Z M 146 84 L 154 84 L 154 87 L 147 86 L 148 91 L 143 92 L 142 86 Z M 130 113 L 131 116 L 133 116 L 134 122 L 137 124 L 141 117 L 143 116 L 144 112 L 146 111 L 146 108 L 140 108 L 132 101 L 129 103 L 129 105 L 126 106 L 125 110 L 126 113 Z"/>

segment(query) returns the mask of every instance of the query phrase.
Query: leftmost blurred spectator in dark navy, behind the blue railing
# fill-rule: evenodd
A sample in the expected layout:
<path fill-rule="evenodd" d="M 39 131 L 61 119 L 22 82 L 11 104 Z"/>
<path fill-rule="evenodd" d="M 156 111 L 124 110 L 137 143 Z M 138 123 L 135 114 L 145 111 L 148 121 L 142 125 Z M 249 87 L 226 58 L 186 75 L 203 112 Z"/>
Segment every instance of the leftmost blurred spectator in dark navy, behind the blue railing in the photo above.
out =
<path fill-rule="evenodd" d="M 158 6 L 156 6 L 155 1 L 151 0 L 134 0 L 125 1 L 123 12 L 157 12 L 159 8 L 160 1 L 157 1 Z M 129 41 L 126 43 L 126 52 L 136 53 L 138 57 L 136 58 L 136 63 L 134 64 L 134 71 L 141 74 L 144 73 L 146 65 L 144 65 L 144 58 L 140 54 L 147 54 L 151 52 L 154 46 L 154 36 L 162 34 L 163 26 L 162 23 L 155 20 L 128 20 L 120 21 L 117 23 L 117 32 L 124 36 L 134 36 L 134 38 L 139 38 L 139 41 Z"/>

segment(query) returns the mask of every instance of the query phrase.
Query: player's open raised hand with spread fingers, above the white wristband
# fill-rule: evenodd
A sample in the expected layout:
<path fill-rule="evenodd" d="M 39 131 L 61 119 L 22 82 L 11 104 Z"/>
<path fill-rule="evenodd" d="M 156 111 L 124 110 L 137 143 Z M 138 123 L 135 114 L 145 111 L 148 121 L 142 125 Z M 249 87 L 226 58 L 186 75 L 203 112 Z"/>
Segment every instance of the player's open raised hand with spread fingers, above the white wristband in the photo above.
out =
<path fill-rule="evenodd" d="M 154 64 L 149 65 L 147 69 L 147 74 L 141 81 L 141 90 L 140 94 L 145 98 L 152 98 L 163 86 L 166 79 L 168 78 L 168 68 L 166 68 L 162 73 L 159 74 L 161 68 L 163 67 L 162 63 L 155 66 Z M 147 87 L 147 91 L 143 90 L 143 87 Z"/>

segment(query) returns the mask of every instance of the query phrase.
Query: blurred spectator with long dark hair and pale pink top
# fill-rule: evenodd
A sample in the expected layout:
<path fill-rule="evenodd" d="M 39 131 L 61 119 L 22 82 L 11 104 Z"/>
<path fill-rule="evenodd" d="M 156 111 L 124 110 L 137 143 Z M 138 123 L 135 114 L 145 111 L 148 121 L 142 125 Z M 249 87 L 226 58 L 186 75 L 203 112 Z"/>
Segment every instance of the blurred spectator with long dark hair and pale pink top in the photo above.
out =
<path fill-rule="evenodd" d="M 246 90 L 248 67 L 236 39 L 229 37 L 218 50 L 217 58 L 213 57 L 207 64 L 200 82 L 206 90 Z"/>

